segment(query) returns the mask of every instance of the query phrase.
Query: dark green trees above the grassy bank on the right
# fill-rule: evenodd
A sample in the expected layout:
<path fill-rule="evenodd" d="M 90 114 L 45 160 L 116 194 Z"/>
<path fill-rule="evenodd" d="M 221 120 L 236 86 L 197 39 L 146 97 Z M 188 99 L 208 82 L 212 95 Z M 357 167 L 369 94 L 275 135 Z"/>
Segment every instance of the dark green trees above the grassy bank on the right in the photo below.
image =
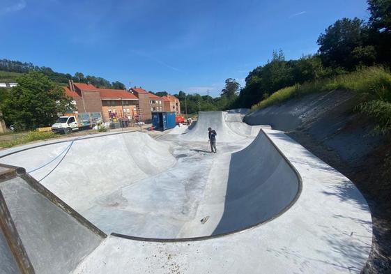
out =
<path fill-rule="evenodd" d="M 343 75 L 362 66 L 391 65 L 391 1 L 368 0 L 368 21 L 342 18 L 317 40 L 314 55 L 286 60 L 282 50 L 252 70 L 231 107 L 251 107 L 286 86 Z"/>

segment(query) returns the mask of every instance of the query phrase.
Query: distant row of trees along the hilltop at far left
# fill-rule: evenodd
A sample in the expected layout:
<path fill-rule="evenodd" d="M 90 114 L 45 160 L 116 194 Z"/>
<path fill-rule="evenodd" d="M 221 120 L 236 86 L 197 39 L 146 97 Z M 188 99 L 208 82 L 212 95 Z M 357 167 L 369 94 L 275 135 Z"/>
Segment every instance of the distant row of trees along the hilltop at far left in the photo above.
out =
<path fill-rule="evenodd" d="M 52 68 L 45 66 L 34 66 L 30 62 L 13 61 L 8 59 L 0 59 L 0 70 L 8 71 L 12 73 L 28 73 L 29 71 L 38 71 L 46 75 L 49 79 L 57 84 L 68 84 L 68 80 L 79 83 L 93 84 L 98 88 L 104 89 L 125 89 L 125 84 L 121 82 L 109 82 L 109 80 L 102 77 L 95 77 L 91 75 L 84 76 L 83 73 L 75 73 L 70 75 L 69 73 L 56 73 Z"/>

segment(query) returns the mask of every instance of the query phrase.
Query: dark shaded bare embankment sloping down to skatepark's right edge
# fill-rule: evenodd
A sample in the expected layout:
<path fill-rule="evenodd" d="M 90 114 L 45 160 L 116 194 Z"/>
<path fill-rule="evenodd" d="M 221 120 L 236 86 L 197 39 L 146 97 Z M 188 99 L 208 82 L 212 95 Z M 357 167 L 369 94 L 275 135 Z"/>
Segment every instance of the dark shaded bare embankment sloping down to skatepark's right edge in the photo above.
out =
<path fill-rule="evenodd" d="M 351 179 L 365 195 L 374 224 L 374 244 L 364 273 L 391 269 L 391 178 L 385 158 L 390 136 L 373 135 L 374 122 L 353 111 L 348 91 L 312 93 L 245 116 L 250 125 L 270 124 Z M 346 197 L 349 199 L 349 197 Z"/>

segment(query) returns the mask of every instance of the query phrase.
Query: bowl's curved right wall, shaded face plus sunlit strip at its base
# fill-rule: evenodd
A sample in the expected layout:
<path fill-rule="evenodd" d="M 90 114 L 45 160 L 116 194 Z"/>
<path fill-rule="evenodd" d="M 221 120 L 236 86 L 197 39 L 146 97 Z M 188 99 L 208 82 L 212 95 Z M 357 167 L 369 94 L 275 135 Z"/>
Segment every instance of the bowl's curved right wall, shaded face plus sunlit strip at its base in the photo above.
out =
<path fill-rule="evenodd" d="M 219 155 L 211 170 L 197 216 L 178 238 L 254 227 L 282 214 L 300 194 L 300 175 L 262 130 L 245 149 Z"/>

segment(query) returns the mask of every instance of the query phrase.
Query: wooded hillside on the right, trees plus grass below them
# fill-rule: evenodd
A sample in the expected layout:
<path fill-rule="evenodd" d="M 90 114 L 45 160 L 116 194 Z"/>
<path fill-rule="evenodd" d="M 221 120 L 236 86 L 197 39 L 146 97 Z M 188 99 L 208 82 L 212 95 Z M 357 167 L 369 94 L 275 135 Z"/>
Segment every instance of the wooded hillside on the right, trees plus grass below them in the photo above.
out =
<path fill-rule="evenodd" d="M 252 70 L 231 107 L 267 107 L 307 93 L 343 89 L 360 94 L 355 111 L 391 130 L 391 1 L 368 0 L 369 20 L 342 18 L 321 33 L 319 51 L 297 60 L 273 52 Z"/>

